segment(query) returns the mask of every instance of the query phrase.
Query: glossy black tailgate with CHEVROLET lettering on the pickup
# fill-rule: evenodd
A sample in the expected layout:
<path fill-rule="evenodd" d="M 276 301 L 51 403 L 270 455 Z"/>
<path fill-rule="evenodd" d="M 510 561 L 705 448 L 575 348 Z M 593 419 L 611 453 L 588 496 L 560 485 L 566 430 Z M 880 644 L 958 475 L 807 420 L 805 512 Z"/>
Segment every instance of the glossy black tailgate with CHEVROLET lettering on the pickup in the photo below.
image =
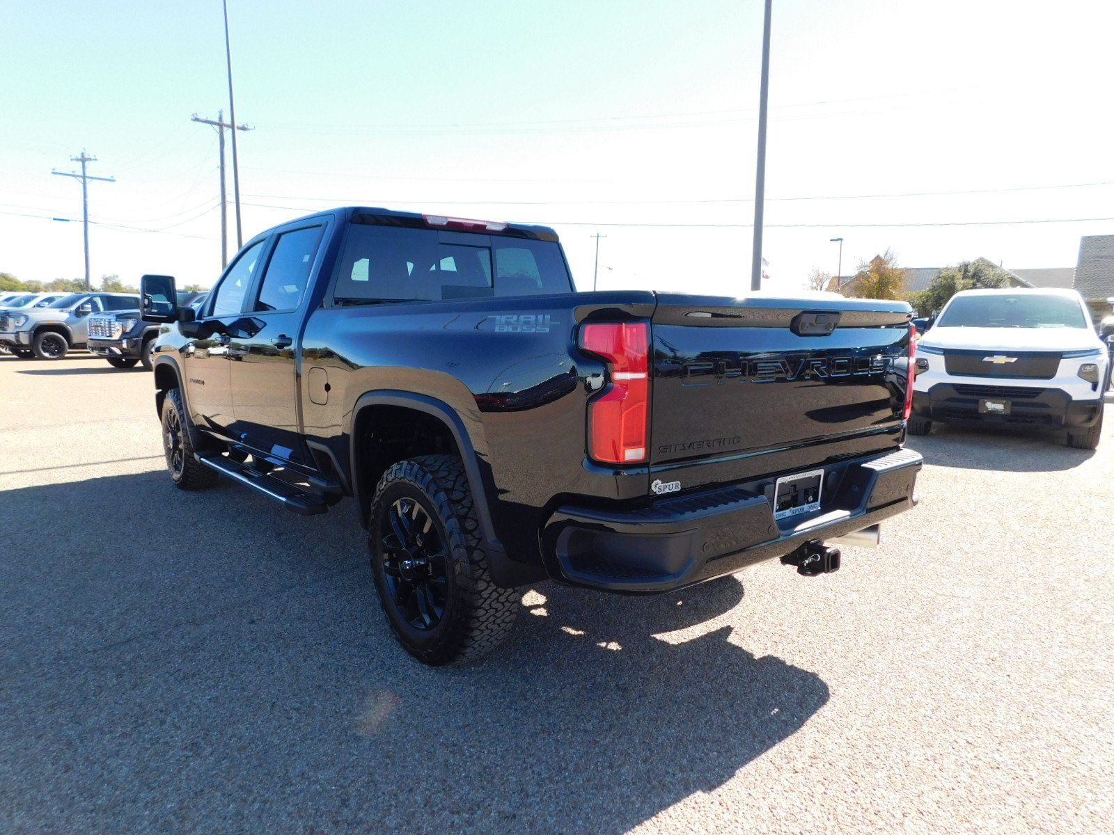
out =
<path fill-rule="evenodd" d="M 690 488 L 896 446 L 910 316 L 902 302 L 659 294 L 652 469 L 696 466 Z"/>

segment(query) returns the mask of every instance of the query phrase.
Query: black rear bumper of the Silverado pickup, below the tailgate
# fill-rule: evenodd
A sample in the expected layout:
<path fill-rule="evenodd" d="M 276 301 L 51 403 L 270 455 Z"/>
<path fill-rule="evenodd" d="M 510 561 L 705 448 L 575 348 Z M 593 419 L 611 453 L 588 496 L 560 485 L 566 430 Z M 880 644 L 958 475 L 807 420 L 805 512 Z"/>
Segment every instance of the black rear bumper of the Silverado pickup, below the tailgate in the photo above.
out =
<path fill-rule="evenodd" d="M 775 520 L 773 479 L 680 495 L 628 511 L 561 507 L 545 525 L 550 573 L 607 591 L 654 593 L 734 573 L 877 524 L 916 504 L 921 456 L 898 450 L 824 468 L 822 504 Z"/>

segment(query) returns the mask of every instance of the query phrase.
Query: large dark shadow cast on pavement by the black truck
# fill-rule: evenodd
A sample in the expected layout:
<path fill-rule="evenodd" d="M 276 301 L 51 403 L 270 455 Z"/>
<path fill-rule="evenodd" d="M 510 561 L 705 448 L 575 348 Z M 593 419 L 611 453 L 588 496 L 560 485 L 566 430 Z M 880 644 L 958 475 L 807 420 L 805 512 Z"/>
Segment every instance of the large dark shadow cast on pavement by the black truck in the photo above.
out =
<path fill-rule="evenodd" d="M 495 655 L 430 669 L 393 642 L 345 504 L 295 517 L 159 471 L 0 509 L 0 828 L 620 833 L 829 698 L 715 622 L 734 578 L 546 583 Z"/>

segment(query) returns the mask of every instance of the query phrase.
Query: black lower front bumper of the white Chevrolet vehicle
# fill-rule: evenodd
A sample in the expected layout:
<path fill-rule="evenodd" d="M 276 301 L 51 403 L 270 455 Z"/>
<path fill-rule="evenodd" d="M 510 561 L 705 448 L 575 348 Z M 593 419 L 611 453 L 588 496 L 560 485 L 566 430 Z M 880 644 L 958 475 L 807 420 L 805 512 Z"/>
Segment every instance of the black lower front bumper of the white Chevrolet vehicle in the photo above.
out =
<path fill-rule="evenodd" d="M 1006 381 L 1008 382 L 1008 381 Z M 985 390 L 985 391 L 984 391 Z M 1009 401 L 1009 414 L 979 412 L 987 397 Z M 979 422 L 1051 429 L 1093 426 L 1102 414 L 1103 400 L 1073 400 L 1061 389 L 957 386 L 938 383 L 927 392 L 913 392 L 912 412 L 918 418 L 956 423 Z"/>

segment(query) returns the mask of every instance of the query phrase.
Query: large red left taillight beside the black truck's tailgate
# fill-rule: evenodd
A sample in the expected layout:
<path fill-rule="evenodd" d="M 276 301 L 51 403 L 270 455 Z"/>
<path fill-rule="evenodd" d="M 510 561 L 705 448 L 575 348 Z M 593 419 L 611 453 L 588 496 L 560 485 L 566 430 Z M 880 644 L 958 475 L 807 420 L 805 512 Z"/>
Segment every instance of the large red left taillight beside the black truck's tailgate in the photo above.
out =
<path fill-rule="evenodd" d="M 635 464 L 646 460 L 649 412 L 649 324 L 588 324 L 580 347 L 607 361 L 610 384 L 588 404 L 588 451 L 596 461 Z"/>

